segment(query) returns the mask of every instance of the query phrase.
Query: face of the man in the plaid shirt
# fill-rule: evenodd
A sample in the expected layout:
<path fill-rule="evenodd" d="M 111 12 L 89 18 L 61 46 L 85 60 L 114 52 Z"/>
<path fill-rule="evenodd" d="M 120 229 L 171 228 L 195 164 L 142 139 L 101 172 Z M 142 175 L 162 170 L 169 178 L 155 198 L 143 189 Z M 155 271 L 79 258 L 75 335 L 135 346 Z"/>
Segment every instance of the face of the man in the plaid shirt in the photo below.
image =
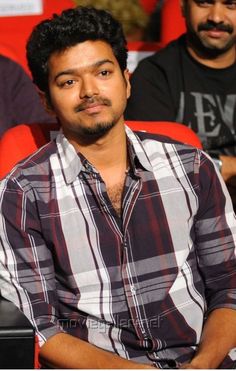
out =
<path fill-rule="evenodd" d="M 123 120 L 128 71 L 122 74 L 110 45 L 79 43 L 54 53 L 48 68 L 50 104 L 68 139 L 101 137 Z"/>

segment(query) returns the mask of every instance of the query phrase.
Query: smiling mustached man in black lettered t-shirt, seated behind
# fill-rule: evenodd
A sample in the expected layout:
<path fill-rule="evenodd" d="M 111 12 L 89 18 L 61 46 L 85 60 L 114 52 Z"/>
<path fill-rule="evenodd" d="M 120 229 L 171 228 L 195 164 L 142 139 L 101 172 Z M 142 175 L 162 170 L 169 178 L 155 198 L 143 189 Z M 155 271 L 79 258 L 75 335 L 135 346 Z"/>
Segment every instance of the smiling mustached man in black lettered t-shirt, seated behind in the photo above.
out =
<path fill-rule="evenodd" d="M 126 118 L 190 126 L 236 203 L 236 1 L 182 0 L 181 6 L 187 32 L 134 71 Z"/>

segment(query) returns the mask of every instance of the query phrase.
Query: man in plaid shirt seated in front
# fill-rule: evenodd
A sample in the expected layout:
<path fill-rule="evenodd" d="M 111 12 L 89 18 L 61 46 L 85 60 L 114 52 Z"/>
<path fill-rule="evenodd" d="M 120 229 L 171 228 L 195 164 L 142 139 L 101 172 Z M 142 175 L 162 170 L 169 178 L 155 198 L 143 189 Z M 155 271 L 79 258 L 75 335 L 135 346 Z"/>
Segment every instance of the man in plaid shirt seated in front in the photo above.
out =
<path fill-rule="evenodd" d="M 1 183 L 1 294 L 46 366 L 233 367 L 229 196 L 201 151 L 125 127 L 125 45 L 109 13 L 83 7 L 30 37 L 62 131 Z"/>

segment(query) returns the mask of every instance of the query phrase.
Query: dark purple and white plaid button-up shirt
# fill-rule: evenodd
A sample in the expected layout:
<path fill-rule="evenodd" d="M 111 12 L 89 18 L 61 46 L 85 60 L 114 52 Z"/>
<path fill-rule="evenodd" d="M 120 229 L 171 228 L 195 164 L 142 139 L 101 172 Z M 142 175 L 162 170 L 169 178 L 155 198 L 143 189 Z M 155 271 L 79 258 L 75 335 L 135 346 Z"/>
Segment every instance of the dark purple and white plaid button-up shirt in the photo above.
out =
<path fill-rule="evenodd" d="M 61 133 L 1 182 L 1 294 L 42 344 L 63 331 L 173 367 L 193 357 L 209 311 L 236 308 L 235 216 L 204 152 L 126 132 L 122 217 Z"/>

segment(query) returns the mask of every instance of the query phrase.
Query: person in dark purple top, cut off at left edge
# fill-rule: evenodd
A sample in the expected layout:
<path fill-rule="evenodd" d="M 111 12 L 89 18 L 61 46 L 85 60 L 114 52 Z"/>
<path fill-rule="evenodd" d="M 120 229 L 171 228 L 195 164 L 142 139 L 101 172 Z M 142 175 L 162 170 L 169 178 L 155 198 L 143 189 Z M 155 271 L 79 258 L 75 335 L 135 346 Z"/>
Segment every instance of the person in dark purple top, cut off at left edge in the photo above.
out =
<path fill-rule="evenodd" d="M 0 137 L 19 124 L 52 121 L 23 68 L 0 55 Z"/>

